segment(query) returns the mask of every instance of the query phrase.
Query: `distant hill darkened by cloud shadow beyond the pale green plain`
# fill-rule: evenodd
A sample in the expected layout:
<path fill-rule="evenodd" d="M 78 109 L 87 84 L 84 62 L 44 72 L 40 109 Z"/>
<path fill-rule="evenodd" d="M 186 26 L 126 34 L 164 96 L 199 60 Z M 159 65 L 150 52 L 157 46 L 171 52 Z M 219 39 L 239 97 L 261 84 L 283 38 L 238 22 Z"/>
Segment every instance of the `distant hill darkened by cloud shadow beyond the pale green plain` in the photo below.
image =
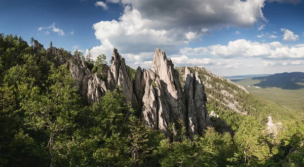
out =
<path fill-rule="evenodd" d="M 297 82 L 304 83 L 304 72 L 284 72 L 269 76 L 252 77 L 253 80 L 261 80 L 254 84 L 260 88 L 277 87 L 288 90 L 296 90 L 304 88 L 304 86 L 297 84 Z"/>

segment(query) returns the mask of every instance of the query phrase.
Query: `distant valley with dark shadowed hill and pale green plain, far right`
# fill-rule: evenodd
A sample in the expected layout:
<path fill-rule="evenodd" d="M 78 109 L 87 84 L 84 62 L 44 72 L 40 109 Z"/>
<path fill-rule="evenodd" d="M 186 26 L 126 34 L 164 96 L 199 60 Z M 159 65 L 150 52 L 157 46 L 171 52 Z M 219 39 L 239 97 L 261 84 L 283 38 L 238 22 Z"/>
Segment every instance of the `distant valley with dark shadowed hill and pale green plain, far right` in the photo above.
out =
<path fill-rule="evenodd" d="M 285 78 L 284 75 L 287 77 Z M 304 83 L 292 81 L 293 79 L 300 81 L 302 78 L 299 76 L 301 75 L 290 76 L 288 73 L 287 75 L 283 73 L 269 77 L 246 78 L 235 82 L 255 96 L 282 105 L 285 109 L 302 115 L 302 111 L 304 111 Z"/>

